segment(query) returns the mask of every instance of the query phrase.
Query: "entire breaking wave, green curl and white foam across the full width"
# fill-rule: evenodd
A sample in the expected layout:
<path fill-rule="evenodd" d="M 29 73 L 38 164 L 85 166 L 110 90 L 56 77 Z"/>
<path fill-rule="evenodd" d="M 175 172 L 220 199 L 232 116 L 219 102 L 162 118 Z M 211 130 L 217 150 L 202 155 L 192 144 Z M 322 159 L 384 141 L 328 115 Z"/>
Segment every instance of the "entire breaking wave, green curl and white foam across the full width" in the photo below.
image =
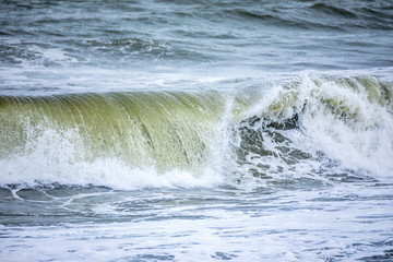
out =
<path fill-rule="evenodd" d="M 305 75 L 263 92 L 2 96 L 0 180 L 133 188 L 224 182 L 239 170 L 390 176 L 392 93 L 372 76 Z"/>

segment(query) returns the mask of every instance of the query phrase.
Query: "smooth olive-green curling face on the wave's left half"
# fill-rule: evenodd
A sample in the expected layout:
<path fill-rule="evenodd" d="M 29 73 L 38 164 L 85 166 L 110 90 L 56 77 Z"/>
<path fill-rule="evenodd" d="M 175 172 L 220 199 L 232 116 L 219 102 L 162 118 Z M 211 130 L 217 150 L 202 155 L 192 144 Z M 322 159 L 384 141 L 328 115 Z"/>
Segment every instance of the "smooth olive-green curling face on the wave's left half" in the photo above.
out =
<path fill-rule="evenodd" d="M 104 158 L 157 172 L 196 168 L 223 110 L 214 92 L 1 97 L 0 105 L 1 157 L 45 159 L 40 172 L 49 176 Z"/>

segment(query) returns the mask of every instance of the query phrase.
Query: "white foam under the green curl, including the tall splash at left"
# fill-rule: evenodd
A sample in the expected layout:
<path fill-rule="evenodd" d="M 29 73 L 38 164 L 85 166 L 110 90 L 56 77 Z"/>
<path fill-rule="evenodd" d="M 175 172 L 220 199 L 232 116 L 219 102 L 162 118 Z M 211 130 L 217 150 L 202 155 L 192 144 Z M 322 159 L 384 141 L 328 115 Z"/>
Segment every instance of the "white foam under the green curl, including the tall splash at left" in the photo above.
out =
<path fill-rule="evenodd" d="M 154 166 L 133 167 L 115 157 L 88 160 L 78 138 L 73 130 L 58 132 L 46 129 L 36 140 L 28 140 L 25 151 L 0 159 L 1 183 L 34 186 L 57 182 L 139 189 L 212 187 L 224 181 L 219 168 L 214 166 L 201 167 L 198 172 L 172 169 L 160 174 Z"/>

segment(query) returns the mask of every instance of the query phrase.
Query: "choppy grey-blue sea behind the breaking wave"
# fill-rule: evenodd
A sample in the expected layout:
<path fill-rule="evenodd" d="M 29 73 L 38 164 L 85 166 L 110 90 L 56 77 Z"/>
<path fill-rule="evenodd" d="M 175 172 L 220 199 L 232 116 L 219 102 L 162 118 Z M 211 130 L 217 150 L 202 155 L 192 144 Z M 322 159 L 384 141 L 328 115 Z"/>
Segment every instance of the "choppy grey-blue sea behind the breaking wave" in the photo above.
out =
<path fill-rule="evenodd" d="M 391 1 L 2 1 L 2 93 L 389 68 L 392 13 Z"/>

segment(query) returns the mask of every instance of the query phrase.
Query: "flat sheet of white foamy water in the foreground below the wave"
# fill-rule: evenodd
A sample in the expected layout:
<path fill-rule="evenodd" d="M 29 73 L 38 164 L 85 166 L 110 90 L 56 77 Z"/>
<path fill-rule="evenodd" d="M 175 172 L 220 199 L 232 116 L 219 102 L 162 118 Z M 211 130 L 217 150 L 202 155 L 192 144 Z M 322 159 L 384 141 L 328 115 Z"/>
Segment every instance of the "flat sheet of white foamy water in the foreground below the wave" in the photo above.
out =
<path fill-rule="evenodd" d="M 378 198 L 366 203 L 365 200 L 350 203 L 318 200 L 343 196 L 346 189 L 341 190 L 329 190 L 325 194 L 291 191 L 274 195 L 245 195 L 241 191 L 242 194 L 234 199 L 222 195 L 227 200 L 222 205 L 210 202 L 165 206 L 141 193 L 139 201 L 152 202 L 152 206 L 144 210 L 146 218 L 44 227 L 0 226 L 7 239 L 0 242 L 0 258 L 4 261 L 111 261 L 171 255 L 179 261 L 216 261 L 219 255 L 227 255 L 234 261 L 323 261 L 382 254 L 390 241 L 386 231 L 392 230 L 391 212 L 386 212 L 389 202 L 380 202 Z M 360 195 L 372 190 L 366 188 Z M 389 193 L 389 189 L 382 191 Z M 187 198 L 187 193 L 181 196 Z M 215 198 L 216 193 L 209 196 Z M 105 198 L 103 200 L 105 202 Z M 133 203 L 122 198 L 118 201 L 120 206 Z M 373 205 L 374 201 L 381 205 Z M 130 209 L 128 215 L 133 216 L 134 212 Z M 381 241 L 386 243 L 378 245 Z"/>

